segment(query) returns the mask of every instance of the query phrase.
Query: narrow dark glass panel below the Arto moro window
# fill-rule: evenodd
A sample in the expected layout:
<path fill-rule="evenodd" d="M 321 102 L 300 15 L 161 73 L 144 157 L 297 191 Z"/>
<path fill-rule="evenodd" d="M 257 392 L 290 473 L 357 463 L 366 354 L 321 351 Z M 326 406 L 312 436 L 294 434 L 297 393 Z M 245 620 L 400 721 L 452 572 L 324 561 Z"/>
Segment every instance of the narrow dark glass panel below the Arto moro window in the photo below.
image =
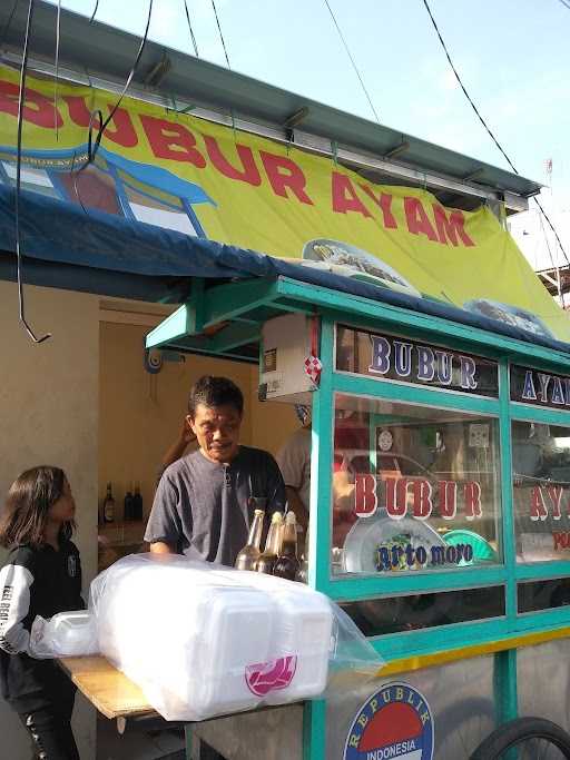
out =
<path fill-rule="evenodd" d="M 341 604 L 366 636 L 504 615 L 504 588 L 463 589 Z"/>

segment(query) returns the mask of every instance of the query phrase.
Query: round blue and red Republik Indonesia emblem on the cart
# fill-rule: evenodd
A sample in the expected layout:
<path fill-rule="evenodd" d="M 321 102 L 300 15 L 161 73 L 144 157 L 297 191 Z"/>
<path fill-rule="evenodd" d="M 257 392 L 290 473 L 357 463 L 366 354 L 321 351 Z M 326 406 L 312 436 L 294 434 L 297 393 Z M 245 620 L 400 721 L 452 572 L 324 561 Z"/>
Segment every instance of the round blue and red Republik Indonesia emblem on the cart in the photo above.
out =
<path fill-rule="evenodd" d="M 433 760 L 434 728 L 428 700 L 404 681 L 386 683 L 361 707 L 343 760 Z"/>

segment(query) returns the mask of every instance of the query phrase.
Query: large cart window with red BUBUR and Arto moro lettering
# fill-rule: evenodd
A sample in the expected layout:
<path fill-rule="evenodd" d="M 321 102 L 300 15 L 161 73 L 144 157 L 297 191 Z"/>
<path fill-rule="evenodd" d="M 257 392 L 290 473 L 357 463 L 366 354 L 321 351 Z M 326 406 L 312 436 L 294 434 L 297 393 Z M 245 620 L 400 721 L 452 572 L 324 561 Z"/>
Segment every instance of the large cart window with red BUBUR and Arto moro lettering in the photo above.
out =
<path fill-rule="evenodd" d="M 333 572 L 501 561 L 498 421 L 335 397 Z"/>

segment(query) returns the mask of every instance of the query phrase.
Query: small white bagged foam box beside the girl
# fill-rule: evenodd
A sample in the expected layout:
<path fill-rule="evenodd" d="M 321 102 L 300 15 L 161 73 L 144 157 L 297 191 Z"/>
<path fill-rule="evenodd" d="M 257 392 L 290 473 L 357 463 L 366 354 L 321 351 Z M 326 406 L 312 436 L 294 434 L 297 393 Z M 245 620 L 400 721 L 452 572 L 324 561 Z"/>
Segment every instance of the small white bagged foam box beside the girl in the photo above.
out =
<path fill-rule="evenodd" d="M 99 651 L 95 618 L 87 611 L 59 612 L 49 620 L 37 615 L 30 652 L 37 659 L 81 657 Z"/>

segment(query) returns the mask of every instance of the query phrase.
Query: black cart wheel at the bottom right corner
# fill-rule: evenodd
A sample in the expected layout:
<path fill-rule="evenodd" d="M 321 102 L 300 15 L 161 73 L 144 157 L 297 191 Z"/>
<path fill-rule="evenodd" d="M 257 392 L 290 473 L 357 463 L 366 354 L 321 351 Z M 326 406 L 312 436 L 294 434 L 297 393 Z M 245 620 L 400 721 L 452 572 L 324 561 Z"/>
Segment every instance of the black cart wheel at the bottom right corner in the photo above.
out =
<path fill-rule="evenodd" d="M 514 754 L 509 750 L 517 748 Z M 570 759 L 570 736 L 560 726 L 543 718 L 518 718 L 491 733 L 470 760 L 562 760 Z"/>

